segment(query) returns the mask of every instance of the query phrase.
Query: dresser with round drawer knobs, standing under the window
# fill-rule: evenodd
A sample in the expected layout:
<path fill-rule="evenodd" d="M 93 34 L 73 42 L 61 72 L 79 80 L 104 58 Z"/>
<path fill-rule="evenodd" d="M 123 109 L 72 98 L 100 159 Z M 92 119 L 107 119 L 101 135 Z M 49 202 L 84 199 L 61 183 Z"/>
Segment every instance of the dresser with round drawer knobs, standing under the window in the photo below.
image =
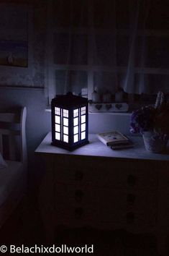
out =
<path fill-rule="evenodd" d="M 111 150 L 96 135 L 73 152 L 50 145 L 49 133 L 36 153 L 45 163 L 40 210 L 47 239 L 55 226 L 92 226 L 152 233 L 159 255 L 168 255 L 169 148 L 149 153 L 142 137 L 134 148 Z"/>

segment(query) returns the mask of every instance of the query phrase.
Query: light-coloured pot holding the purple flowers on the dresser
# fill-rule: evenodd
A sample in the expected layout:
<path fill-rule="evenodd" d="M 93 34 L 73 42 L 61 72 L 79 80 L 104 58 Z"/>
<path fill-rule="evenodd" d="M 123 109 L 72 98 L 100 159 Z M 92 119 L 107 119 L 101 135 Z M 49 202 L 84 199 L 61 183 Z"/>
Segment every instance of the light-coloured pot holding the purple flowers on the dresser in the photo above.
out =
<path fill-rule="evenodd" d="M 155 134 L 155 132 L 143 132 L 143 140 L 145 142 L 145 149 L 152 153 L 160 153 L 165 150 L 168 138 Z"/>

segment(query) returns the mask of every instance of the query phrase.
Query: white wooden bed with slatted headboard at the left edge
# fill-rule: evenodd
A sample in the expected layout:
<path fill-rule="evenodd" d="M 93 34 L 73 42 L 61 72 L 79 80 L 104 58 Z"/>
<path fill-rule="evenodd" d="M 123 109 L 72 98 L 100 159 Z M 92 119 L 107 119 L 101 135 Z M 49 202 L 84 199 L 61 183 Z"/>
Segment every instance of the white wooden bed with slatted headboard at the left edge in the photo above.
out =
<path fill-rule="evenodd" d="M 27 108 L 0 113 L 0 153 L 7 163 L 0 169 L 0 227 L 24 195 L 27 181 Z"/>

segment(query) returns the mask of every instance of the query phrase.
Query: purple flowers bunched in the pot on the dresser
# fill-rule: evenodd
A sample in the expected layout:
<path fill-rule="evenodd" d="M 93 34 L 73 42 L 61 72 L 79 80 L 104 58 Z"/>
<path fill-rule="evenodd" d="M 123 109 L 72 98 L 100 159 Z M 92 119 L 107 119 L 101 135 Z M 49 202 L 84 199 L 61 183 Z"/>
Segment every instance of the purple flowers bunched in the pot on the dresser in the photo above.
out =
<path fill-rule="evenodd" d="M 155 106 L 143 106 L 131 116 L 130 132 L 154 132 L 160 137 L 169 137 L 169 101 L 158 92 Z"/>

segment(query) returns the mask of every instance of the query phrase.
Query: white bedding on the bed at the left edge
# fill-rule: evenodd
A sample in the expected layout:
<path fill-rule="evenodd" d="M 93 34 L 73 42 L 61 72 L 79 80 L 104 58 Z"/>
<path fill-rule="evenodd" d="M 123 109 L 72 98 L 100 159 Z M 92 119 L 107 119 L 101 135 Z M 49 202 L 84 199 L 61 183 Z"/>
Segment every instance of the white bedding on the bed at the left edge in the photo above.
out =
<path fill-rule="evenodd" d="M 22 180 L 22 163 L 17 161 L 6 161 L 7 167 L 0 169 L 0 206 L 6 201 L 6 198 L 14 188 L 19 186 Z M 23 178 L 24 179 L 24 178 Z"/>

